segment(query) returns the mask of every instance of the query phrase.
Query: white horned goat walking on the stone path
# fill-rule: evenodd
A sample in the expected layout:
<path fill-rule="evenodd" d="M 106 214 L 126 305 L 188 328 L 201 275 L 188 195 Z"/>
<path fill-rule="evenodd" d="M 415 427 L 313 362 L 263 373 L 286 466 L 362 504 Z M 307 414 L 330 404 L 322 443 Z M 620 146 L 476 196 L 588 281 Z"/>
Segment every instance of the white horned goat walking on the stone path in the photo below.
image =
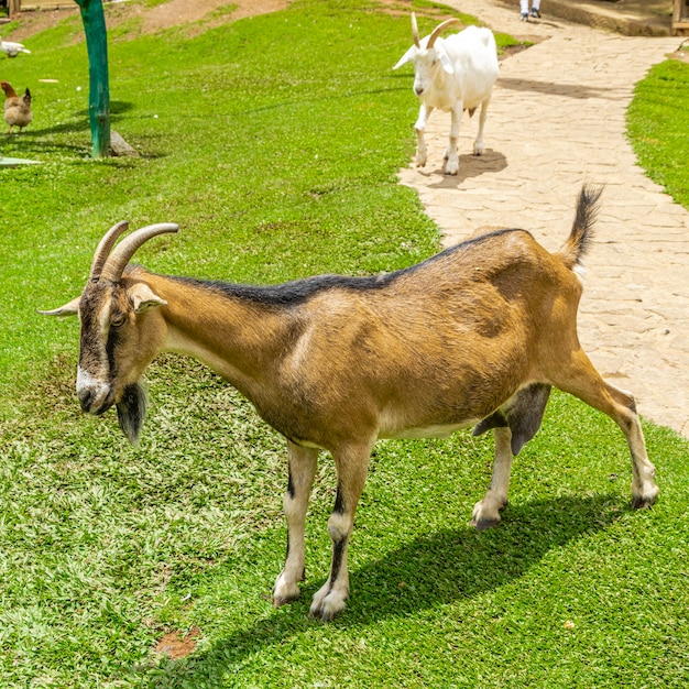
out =
<path fill-rule="evenodd" d="M 469 117 L 481 106 L 479 116 L 479 133 L 473 144 L 474 155 L 483 153 L 483 125 L 491 100 L 493 85 L 499 75 L 497 48 L 495 37 L 490 29 L 467 26 L 457 34 L 441 39 L 440 33 L 451 24 L 460 23 L 458 19 L 448 19 L 425 39 L 418 39 L 416 17 L 412 13 L 412 34 L 414 45 L 393 67 L 414 63 L 414 92 L 422 101 L 418 120 L 414 125 L 417 136 L 416 164 L 426 165 L 426 141 L 424 131 L 426 121 L 435 108 L 452 117 L 450 142 L 445 152 L 445 172 L 456 175 L 459 172 L 457 140 L 459 123 L 464 110 Z"/>

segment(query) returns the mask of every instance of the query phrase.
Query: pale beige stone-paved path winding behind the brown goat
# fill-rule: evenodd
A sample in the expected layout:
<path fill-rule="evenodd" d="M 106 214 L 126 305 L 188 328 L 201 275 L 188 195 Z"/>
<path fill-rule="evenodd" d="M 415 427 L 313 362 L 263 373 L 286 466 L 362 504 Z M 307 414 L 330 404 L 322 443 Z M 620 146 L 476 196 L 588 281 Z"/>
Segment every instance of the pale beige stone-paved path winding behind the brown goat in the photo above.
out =
<path fill-rule="evenodd" d="M 485 154 L 471 155 L 478 117 L 464 116 L 459 175 L 444 176 L 449 114 L 436 111 L 427 166 L 403 169 L 403 184 L 418 190 L 445 245 L 501 226 L 527 229 L 549 250 L 569 233 L 581 184 L 604 185 L 581 342 L 604 378 L 634 393 L 642 415 L 689 437 L 689 212 L 644 175 L 624 133 L 635 83 L 681 39 L 622 36 L 547 15 L 524 23 L 516 0 L 446 2 L 540 43 L 501 65 Z"/>

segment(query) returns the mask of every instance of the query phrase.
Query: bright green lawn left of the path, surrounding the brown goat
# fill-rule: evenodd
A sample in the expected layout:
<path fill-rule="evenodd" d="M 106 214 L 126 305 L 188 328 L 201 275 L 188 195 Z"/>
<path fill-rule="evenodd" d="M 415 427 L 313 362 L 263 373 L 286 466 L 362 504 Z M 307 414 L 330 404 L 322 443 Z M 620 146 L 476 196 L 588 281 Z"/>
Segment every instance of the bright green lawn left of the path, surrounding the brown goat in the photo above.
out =
<path fill-rule="evenodd" d="M 445 17 L 416 7 L 422 31 Z M 194 36 L 129 22 L 110 35 L 113 128 L 142 156 L 100 162 L 80 33 L 67 20 L 1 61 L 35 114 L 0 150 L 43 164 L 0 169 L 0 688 L 683 686 L 689 448 L 668 429 L 645 425 L 661 494 L 632 512 L 622 434 L 556 394 L 503 523 L 481 534 L 468 522 L 490 438 L 380 442 L 352 598 L 321 624 L 307 612 L 329 566 L 328 456 L 303 598 L 274 610 L 284 441 L 250 405 L 166 356 L 146 376 L 140 447 L 114 413 L 80 414 L 78 324 L 35 309 L 80 292 L 118 220 L 181 225 L 136 254 L 151 270 L 236 282 L 391 271 L 439 247 L 396 183 L 417 110 L 411 73 L 392 72 L 405 12 L 296 0 Z M 195 652 L 156 654 L 176 631 Z"/>

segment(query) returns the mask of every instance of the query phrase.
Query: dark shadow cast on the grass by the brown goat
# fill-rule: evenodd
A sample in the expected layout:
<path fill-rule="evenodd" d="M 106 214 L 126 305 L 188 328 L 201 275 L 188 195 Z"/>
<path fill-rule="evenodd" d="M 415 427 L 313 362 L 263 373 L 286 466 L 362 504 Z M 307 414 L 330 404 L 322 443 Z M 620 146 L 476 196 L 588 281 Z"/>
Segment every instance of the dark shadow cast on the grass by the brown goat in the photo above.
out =
<path fill-rule="evenodd" d="M 549 551 L 605 531 L 628 510 L 619 495 L 567 496 L 508 505 L 501 525 L 488 532 L 462 526 L 417 536 L 352 568 L 352 598 L 329 624 L 378 624 L 386 617 L 481 597 L 520 579 Z M 255 547 L 270 547 L 269 540 L 261 543 Z M 321 584 L 322 579 L 313 572 L 294 603 L 169 666 L 167 686 L 181 687 L 198 677 L 220 687 L 222 676 L 240 668 L 247 657 L 307 634 L 314 624 L 321 624 L 307 616 L 311 597 Z"/>

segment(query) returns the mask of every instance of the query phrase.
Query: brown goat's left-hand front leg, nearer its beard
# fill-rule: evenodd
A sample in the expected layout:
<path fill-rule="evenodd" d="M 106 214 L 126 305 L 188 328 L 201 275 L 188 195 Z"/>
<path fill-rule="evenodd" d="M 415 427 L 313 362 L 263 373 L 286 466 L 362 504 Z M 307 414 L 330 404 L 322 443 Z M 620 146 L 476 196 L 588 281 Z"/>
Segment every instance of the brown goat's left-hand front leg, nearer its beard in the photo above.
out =
<path fill-rule="evenodd" d="M 289 482 L 283 502 L 287 520 L 287 559 L 273 588 L 275 608 L 299 597 L 298 582 L 304 579 L 304 524 L 318 463 L 317 449 L 287 441 L 287 452 Z"/>

